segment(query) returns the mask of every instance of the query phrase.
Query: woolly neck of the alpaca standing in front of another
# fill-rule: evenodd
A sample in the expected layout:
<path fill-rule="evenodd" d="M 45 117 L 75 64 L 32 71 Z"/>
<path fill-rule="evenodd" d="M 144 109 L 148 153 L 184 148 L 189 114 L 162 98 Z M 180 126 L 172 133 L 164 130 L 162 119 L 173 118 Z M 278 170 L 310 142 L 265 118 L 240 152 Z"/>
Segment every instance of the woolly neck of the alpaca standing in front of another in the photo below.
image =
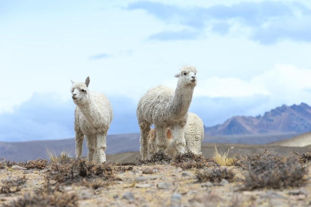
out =
<path fill-rule="evenodd" d="M 193 95 L 194 87 L 176 87 L 175 94 L 168 106 L 168 112 L 172 117 L 186 116 Z"/>

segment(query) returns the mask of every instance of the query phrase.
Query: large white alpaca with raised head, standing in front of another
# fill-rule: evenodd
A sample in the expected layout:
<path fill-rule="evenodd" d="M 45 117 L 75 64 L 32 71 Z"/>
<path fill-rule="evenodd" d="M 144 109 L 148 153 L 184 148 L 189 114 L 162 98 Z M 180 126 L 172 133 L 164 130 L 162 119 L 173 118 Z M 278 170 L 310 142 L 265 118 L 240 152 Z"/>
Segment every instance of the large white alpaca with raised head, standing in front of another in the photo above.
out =
<path fill-rule="evenodd" d="M 148 135 L 152 124 L 156 128 L 156 151 L 167 148 L 165 133 L 169 127 L 177 153 L 185 152 L 184 127 L 193 90 L 197 84 L 196 72 L 194 67 L 182 67 L 175 75 L 178 77 L 175 90 L 159 85 L 149 89 L 139 100 L 136 114 L 141 131 L 142 159 L 147 158 Z"/>

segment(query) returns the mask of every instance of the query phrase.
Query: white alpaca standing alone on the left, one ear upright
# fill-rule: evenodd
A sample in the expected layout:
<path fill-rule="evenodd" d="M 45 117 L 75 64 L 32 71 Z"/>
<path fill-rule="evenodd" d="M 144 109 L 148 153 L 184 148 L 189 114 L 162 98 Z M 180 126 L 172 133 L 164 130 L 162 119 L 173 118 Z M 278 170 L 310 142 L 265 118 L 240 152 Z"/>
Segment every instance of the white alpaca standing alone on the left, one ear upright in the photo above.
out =
<path fill-rule="evenodd" d="M 75 109 L 75 133 L 77 158 L 82 155 L 84 135 L 88 149 L 87 160 L 106 161 L 106 136 L 112 121 L 112 108 L 108 98 L 99 92 L 89 91 L 89 77 L 83 82 L 74 82 L 71 93 Z"/>

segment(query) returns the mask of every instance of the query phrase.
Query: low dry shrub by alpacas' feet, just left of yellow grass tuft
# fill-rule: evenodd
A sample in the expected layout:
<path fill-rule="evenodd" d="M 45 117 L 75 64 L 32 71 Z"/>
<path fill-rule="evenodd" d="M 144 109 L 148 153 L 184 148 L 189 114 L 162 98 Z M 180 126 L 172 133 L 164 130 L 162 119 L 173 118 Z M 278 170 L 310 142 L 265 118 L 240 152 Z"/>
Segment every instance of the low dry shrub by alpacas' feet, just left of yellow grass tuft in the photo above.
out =
<path fill-rule="evenodd" d="M 207 161 L 203 155 L 197 155 L 189 151 L 184 154 L 177 154 L 172 160 L 172 165 L 181 167 L 182 169 L 203 168 L 207 165 Z"/>

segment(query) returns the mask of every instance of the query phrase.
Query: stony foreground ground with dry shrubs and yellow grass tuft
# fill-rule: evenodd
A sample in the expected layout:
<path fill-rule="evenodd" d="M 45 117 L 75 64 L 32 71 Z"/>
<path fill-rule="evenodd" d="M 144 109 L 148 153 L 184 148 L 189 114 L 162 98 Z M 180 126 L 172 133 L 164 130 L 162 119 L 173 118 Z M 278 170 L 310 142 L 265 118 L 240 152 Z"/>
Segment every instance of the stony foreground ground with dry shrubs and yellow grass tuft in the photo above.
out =
<path fill-rule="evenodd" d="M 264 149 L 231 156 L 214 149 L 212 158 L 159 152 L 148 160 L 137 157 L 132 164 L 87 163 L 66 154 L 52 161 L 2 159 L 0 206 L 311 206 L 309 152 L 283 156 Z"/>

